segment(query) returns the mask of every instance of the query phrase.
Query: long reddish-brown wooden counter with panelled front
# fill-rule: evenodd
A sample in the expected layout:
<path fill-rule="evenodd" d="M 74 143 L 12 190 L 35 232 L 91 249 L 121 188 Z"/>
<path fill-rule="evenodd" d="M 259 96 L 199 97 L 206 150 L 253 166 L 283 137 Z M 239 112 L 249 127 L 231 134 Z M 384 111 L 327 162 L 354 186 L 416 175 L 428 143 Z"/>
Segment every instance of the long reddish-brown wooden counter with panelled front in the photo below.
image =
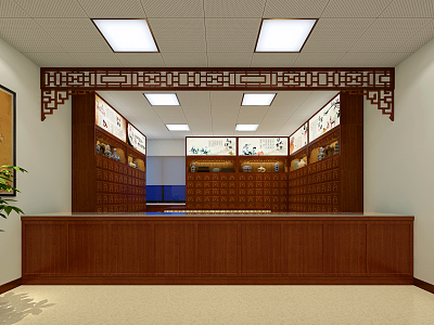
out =
<path fill-rule="evenodd" d="M 393 214 L 22 217 L 23 284 L 412 284 Z"/>

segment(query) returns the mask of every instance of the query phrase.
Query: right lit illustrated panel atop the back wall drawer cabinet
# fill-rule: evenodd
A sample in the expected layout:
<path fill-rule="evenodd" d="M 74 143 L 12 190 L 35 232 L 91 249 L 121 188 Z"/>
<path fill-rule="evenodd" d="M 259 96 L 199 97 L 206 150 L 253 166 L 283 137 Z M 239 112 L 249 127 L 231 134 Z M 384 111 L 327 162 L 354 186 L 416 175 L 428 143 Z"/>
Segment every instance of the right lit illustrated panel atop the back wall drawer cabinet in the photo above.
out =
<path fill-rule="evenodd" d="M 288 138 L 239 138 L 239 156 L 286 156 Z"/>

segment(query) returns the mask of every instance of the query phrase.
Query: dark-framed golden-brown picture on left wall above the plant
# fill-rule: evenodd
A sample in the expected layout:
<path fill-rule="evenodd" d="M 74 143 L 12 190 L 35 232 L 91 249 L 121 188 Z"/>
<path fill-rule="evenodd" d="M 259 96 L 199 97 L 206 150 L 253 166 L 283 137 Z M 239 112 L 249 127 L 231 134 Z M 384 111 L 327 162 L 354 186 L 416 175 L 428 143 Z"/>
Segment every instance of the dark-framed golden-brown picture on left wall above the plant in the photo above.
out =
<path fill-rule="evenodd" d="M 16 93 L 0 84 L 0 166 L 16 166 Z M 12 186 L 16 172 L 12 170 Z M 0 196 L 16 196 L 16 191 L 0 192 Z"/>

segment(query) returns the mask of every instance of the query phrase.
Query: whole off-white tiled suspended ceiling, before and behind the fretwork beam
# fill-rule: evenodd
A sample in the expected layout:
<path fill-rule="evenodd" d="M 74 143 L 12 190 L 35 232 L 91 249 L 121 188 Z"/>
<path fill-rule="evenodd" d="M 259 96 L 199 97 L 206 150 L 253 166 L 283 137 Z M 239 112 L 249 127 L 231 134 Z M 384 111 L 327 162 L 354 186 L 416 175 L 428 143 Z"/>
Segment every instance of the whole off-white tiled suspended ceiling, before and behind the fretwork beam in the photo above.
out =
<path fill-rule="evenodd" d="M 90 18 L 148 18 L 161 53 L 114 53 Z M 261 18 L 318 18 L 301 53 L 254 53 Z M 433 0 L 0 0 L 0 38 L 41 67 L 393 67 L 434 38 Z M 235 123 L 289 135 L 335 92 L 181 92 L 152 107 L 140 92 L 101 95 L 149 139 L 231 135 Z M 379 115 L 380 112 L 379 112 Z M 165 123 L 189 123 L 169 132 Z"/>

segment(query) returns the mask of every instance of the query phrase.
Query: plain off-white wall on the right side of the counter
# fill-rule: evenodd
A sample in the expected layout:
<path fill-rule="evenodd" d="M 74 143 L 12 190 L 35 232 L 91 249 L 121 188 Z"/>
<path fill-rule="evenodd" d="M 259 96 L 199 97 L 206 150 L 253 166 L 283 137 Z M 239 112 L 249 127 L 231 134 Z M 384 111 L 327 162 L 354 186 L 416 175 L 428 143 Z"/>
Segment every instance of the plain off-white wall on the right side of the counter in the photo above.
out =
<path fill-rule="evenodd" d="M 434 284 L 434 41 L 395 74 L 395 121 L 365 103 L 365 210 L 414 216 L 414 277 Z"/>

